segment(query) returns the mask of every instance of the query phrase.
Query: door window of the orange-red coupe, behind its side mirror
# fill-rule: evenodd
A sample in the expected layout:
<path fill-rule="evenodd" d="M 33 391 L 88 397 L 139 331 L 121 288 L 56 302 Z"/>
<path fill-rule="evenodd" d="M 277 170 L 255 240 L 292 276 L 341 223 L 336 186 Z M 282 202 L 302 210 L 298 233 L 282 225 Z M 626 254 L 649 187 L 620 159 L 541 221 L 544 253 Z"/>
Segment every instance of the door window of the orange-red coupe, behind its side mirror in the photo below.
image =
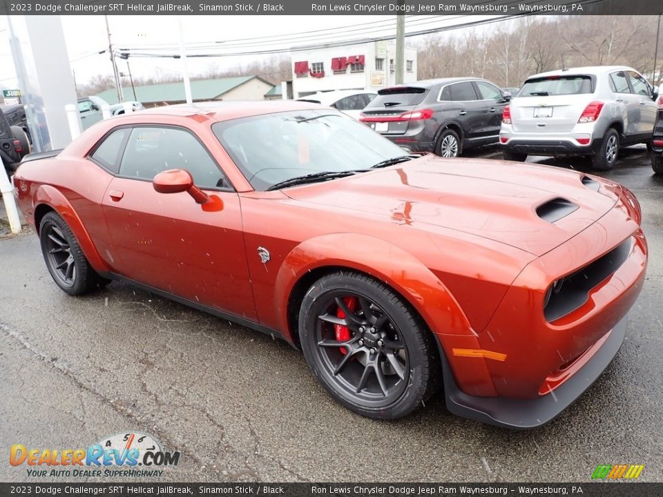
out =
<path fill-rule="evenodd" d="M 224 176 L 193 134 L 177 128 L 133 128 L 119 173 L 137 179 L 153 179 L 169 169 L 186 169 L 202 188 L 227 186 Z"/>

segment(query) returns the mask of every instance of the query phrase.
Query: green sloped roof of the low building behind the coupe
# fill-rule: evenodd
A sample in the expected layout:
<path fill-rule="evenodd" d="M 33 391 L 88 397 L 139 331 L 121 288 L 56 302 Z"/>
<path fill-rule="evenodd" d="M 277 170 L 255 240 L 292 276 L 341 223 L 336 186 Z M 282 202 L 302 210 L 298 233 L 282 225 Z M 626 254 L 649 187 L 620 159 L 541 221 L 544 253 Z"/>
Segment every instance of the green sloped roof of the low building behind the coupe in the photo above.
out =
<path fill-rule="evenodd" d="M 191 81 L 191 97 L 193 100 L 212 100 L 254 78 L 258 78 L 260 81 L 265 81 L 265 79 L 258 76 L 194 79 Z M 269 81 L 265 81 L 265 83 L 271 84 Z M 131 86 L 125 86 L 123 90 L 126 100 L 133 98 Z M 186 95 L 184 95 L 184 84 L 181 81 L 177 81 L 177 83 L 140 85 L 135 86 L 135 90 L 136 99 L 143 103 L 186 100 Z M 115 88 L 102 91 L 97 97 L 104 99 L 111 105 L 118 103 Z"/>

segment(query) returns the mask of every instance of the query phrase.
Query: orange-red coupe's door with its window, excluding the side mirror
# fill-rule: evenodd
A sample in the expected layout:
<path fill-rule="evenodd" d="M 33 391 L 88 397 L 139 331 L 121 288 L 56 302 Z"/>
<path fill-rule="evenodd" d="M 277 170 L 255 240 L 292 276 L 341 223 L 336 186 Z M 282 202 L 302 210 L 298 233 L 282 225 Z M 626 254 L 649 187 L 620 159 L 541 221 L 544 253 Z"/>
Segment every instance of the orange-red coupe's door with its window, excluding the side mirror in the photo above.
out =
<path fill-rule="evenodd" d="M 188 193 L 157 193 L 151 179 L 169 169 L 188 170 L 222 208 L 206 209 Z M 256 319 L 239 197 L 190 130 L 135 126 L 102 208 L 120 275 Z"/>

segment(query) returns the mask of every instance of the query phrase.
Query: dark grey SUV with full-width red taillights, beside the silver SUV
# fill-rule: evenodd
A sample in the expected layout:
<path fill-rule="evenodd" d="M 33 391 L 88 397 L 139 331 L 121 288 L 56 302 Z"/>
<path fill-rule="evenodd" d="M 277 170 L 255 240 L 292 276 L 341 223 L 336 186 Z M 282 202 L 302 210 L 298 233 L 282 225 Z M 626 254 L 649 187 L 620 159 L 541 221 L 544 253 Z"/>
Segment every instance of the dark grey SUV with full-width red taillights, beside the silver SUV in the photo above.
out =
<path fill-rule="evenodd" d="M 509 99 L 485 79 L 429 79 L 379 90 L 360 120 L 414 153 L 457 157 L 497 142 Z"/>

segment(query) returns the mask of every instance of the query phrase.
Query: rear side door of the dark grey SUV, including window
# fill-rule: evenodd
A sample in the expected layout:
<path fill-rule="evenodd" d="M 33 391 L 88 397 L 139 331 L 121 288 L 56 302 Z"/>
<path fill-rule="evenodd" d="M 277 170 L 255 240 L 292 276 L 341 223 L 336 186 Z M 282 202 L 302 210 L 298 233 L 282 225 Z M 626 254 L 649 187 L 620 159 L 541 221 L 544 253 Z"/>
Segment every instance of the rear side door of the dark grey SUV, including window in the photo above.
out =
<path fill-rule="evenodd" d="M 481 130 L 486 128 L 486 105 L 479 101 L 472 81 L 445 86 L 440 99 L 448 104 L 444 106 L 445 119 L 461 125 L 465 140 L 481 139 Z"/>

